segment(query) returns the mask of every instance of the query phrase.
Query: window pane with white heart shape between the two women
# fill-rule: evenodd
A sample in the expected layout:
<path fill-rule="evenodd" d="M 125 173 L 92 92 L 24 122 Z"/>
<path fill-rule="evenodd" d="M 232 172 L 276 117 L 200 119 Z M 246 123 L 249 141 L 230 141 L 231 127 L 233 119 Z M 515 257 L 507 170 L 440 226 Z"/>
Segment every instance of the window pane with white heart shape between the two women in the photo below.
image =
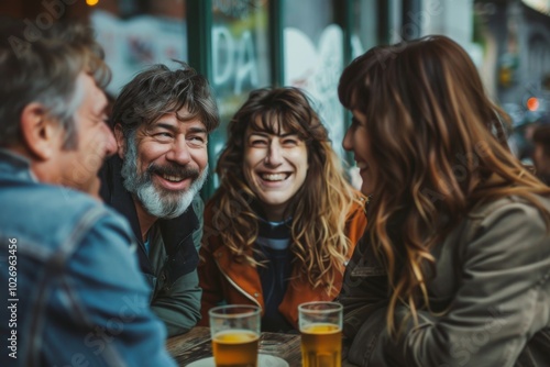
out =
<path fill-rule="evenodd" d="M 285 1 L 284 82 L 308 92 L 329 130 L 334 151 L 343 156 L 344 111 L 338 99 L 343 32 L 334 14 L 339 5 L 337 0 Z"/>

